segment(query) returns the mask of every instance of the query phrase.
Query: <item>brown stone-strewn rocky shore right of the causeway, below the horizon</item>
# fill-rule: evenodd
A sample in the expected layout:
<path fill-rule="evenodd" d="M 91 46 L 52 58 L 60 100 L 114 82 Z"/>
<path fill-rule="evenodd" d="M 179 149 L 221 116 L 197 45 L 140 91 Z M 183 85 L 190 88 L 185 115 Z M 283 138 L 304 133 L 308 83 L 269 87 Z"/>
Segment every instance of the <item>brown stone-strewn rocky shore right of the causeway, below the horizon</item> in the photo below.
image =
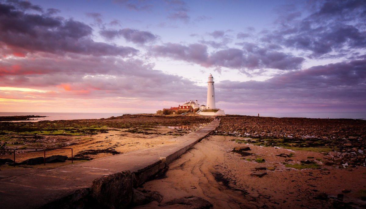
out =
<path fill-rule="evenodd" d="M 366 120 L 221 117 L 220 135 L 254 145 L 322 152 L 324 162 L 337 167 L 365 166 Z"/>

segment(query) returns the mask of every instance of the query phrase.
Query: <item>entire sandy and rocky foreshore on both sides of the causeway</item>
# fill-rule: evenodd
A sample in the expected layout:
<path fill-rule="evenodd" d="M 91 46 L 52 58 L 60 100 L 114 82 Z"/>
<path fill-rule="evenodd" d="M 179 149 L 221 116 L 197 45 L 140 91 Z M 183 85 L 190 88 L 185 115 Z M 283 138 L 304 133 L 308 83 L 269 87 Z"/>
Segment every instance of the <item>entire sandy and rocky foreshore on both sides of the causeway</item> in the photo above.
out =
<path fill-rule="evenodd" d="M 126 114 L 1 122 L 0 146 L 72 147 L 74 155 L 96 159 L 151 148 L 213 119 Z M 365 208 L 365 127 L 366 121 L 359 119 L 220 117 L 216 133 L 137 188 L 147 196 L 160 197 L 150 203 L 142 201 L 144 205 L 137 208 Z M 43 156 L 39 151 L 17 152 L 16 162 Z M 49 151 L 47 156 L 69 154 Z M 3 152 L 0 158 L 12 155 Z M 23 167 L 2 165 L 0 169 L 37 166 Z"/>

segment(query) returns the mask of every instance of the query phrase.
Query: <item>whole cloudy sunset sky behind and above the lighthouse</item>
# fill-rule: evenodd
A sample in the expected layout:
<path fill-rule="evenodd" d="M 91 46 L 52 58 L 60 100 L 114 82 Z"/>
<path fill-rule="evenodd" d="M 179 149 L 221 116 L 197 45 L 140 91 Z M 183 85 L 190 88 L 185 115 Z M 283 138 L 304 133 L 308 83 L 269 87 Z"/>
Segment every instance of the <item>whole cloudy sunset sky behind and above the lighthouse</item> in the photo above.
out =
<path fill-rule="evenodd" d="M 0 0 L 0 111 L 366 112 L 365 0 Z"/>

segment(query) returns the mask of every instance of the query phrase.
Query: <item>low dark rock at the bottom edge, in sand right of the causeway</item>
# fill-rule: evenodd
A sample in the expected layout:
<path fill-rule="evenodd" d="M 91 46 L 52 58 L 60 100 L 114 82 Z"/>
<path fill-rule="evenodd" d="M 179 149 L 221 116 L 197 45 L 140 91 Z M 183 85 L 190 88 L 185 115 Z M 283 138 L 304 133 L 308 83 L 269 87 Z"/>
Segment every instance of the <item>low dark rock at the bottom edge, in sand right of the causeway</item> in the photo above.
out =
<path fill-rule="evenodd" d="M 180 199 L 173 199 L 172 201 L 166 202 L 163 205 L 159 205 L 160 207 L 165 207 L 168 205 L 183 205 L 184 208 L 197 208 L 197 209 L 204 209 L 204 208 L 211 208 L 212 204 L 207 201 L 206 199 L 203 199 L 201 197 L 183 197 Z"/>

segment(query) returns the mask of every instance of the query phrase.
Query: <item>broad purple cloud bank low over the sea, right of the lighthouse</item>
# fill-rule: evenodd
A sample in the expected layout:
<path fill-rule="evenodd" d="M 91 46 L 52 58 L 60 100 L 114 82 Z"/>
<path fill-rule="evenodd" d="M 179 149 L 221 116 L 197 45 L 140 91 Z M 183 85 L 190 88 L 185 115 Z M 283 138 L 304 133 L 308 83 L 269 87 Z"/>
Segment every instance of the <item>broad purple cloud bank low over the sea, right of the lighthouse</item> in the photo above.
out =
<path fill-rule="evenodd" d="M 227 107 L 257 106 L 258 110 L 299 111 L 365 110 L 366 60 L 338 62 L 291 71 L 265 81 L 220 81 L 217 98 L 231 101 Z M 232 97 L 235 95 L 235 97 Z M 239 105 L 239 106 L 238 106 Z"/>

